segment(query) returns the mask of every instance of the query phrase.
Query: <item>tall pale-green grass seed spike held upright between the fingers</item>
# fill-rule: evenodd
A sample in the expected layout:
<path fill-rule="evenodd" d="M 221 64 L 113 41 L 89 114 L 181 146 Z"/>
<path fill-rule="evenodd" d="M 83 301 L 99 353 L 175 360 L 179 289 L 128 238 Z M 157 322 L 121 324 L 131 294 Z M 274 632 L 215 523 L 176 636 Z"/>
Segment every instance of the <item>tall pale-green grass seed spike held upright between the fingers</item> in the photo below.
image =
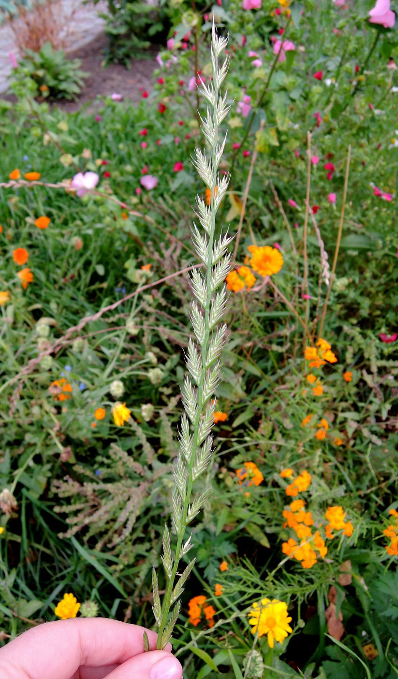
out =
<path fill-rule="evenodd" d="M 219 356 L 226 331 L 226 325 L 219 323 L 225 310 L 227 293 L 224 279 L 230 270 L 228 246 L 232 238 L 228 234 L 221 234 L 215 240 L 215 216 L 228 188 L 228 177 L 219 177 L 217 172 L 226 141 L 226 135 L 219 141 L 219 126 L 230 109 L 226 104 L 227 93 L 224 96 L 219 93 L 227 75 L 228 58 L 223 58 L 222 61 L 219 59 L 225 54 L 227 44 L 228 38 L 219 37 L 213 24 L 213 82 L 209 86 L 202 83 L 200 87 L 208 104 L 206 115 L 200 120 L 211 151 L 207 157 L 200 149 L 196 149 L 194 161 L 198 174 L 210 191 L 211 199 L 207 206 L 200 196 L 196 196 L 196 215 L 202 228 L 198 228 L 195 223 L 192 227 L 192 239 L 202 261 L 202 268 L 192 270 L 191 274 L 195 299 L 192 301 L 190 318 L 196 339 L 190 337 L 187 348 L 188 372 L 183 386 L 184 410 L 179 433 L 179 456 L 174 469 L 172 521 L 175 547 L 172 548 L 167 525 L 163 532 L 162 562 L 166 573 L 166 591 L 162 604 L 158 576 L 153 570 L 153 614 L 159 632 L 157 648 L 164 648 L 173 634 L 179 617 L 183 587 L 195 563 L 195 559 L 191 559 L 176 579 L 182 557 L 193 546 L 192 535 L 185 539 L 187 526 L 198 515 L 212 490 L 209 487 L 201 493 L 193 492 L 194 482 L 211 462 L 215 410 L 212 397 L 220 381 Z"/>

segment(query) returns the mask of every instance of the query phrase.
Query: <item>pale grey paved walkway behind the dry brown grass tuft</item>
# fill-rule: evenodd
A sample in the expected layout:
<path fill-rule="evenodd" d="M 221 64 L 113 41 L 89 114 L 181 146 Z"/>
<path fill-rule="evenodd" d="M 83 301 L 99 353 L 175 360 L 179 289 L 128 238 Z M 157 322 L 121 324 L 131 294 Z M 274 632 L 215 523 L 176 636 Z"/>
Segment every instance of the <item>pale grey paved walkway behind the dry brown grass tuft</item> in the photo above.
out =
<path fill-rule="evenodd" d="M 56 15 L 62 17 L 62 31 L 60 37 L 65 44 L 65 51 L 78 50 L 90 43 L 98 33 L 102 33 L 105 21 L 98 17 L 98 12 L 107 9 L 107 3 L 101 0 L 94 6 L 91 2 L 83 4 L 80 0 L 58 0 L 53 5 Z M 0 26 L 0 94 L 8 89 L 8 76 L 12 65 L 8 56 L 13 52 L 18 60 L 14 33 L 7 24 Z"/>

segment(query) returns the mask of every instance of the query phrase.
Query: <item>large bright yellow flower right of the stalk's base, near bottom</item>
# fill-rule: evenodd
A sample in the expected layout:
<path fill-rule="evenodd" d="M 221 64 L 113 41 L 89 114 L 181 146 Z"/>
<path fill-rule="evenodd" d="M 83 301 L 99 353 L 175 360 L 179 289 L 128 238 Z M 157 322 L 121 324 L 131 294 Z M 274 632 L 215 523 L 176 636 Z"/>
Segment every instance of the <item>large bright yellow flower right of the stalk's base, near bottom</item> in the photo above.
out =
<path fill-rule="evenodd" d="M 274 648 L 274 642 L 280 644 L 293 631 L 289 625 L 291 617 L 287 614 L 287 604 L 277 599 L 261 599 L 261 603 L 255 602 L 249 612 L 249 625 L 254 625 L 252 634 L 258 636 L 268 635 L 268 646 Z"/>

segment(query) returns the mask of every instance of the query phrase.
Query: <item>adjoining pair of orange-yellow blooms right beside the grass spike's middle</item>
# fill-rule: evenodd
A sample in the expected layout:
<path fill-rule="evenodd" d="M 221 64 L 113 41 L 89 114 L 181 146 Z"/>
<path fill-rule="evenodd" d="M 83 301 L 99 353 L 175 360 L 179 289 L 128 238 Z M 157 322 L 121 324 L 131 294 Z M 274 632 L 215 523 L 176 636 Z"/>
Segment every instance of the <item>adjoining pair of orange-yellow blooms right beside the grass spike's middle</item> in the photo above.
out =
<path fill-rule="evenodd" d="M 283 257 L 277 248 L 272 248 L 269 245 L 264 247 L 249 245 L 248 250 L 251 257 L 247 255 L 245 265 L 231 271 L 225 279 L 228 289 L 235 293 L 240 292 L 245 287 L 249 290 L 253 287 L 256 280 L 253 271 L 265 278 L 277 274 L 283 267 Z"/>

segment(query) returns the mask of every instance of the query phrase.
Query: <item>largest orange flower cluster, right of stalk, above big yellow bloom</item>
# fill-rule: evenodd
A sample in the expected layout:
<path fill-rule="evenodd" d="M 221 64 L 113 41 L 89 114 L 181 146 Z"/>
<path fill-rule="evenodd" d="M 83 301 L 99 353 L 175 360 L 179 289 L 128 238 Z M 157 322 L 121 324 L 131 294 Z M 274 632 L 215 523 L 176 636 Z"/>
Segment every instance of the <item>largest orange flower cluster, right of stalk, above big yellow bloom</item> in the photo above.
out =
<path fill-rule="evenodd" d="M 292 476 L 293 469 L 289 467 L 281 471 L 283 479 L 290 479 Z M 287 485 L 285 492 L 287 496 L 297 496 L 299 492 L 307 490 L 310 483 L 311 475 L 304 470 Z M 288 508 L 283 510 L 283 518 L 285 519 L 283 528 L 293 530 L 295 537 L 290 537 L 283 543 L 282 551 L 288 557 L 301 562 L 303 568 L 312 568 L 319 557 L 324 559 L 327 555 L 325 539 L 333 540 L 332 530 L 342 530 L 344 535 L 350 537 L 354 527 L 350 521 L 345 521 L 346 512 L 342 507 L 328 507 L 324 515 L 328 523 L 325 526 L 324 534 L 321 534 L 323 521 L 320 521 L 317 528 L 314 528 L 315 522 L 312 513 L 307 511 L 305 507 L 305 500 L 297 498 L 289 504 Z"/>

